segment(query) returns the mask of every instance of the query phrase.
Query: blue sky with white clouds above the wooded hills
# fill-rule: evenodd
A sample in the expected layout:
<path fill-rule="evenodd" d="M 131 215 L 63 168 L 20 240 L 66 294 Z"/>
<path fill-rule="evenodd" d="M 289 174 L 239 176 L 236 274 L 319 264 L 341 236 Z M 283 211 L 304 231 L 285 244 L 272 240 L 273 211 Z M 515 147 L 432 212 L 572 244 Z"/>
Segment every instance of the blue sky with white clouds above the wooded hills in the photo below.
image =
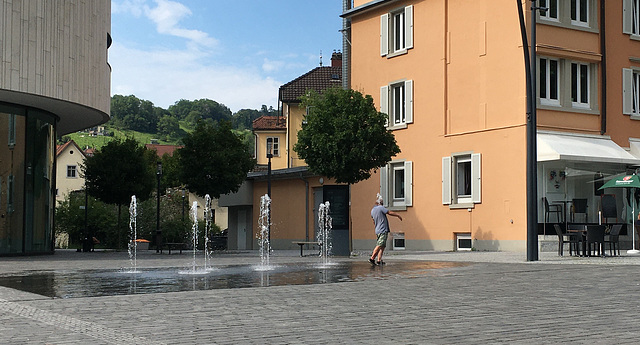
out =
<path fill-rule="evenodd" d="M 163 108 L 276 108 L 278 87 L 342 49 L 342 0 L 112 0 L 111 12 L 111 94 Z"/>

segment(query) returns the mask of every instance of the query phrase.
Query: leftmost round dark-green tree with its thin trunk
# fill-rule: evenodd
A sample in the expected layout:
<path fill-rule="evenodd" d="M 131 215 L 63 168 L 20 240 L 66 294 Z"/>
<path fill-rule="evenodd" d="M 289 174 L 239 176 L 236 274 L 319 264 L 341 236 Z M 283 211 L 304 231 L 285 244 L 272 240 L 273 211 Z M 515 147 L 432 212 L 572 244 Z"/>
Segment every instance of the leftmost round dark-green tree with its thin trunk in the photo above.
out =
<path fill-rule="evenodd" d="M 118 205 L 118 225 L 122 205 L 128 205 L 131 196 L 146 200 L 156 185 L 156 154 L 131 138 L 113 140 L 81 166 L 89 195 L 107 203 Z M 120 228 L 120 226 L 119 226 Z M 123 230 L 118 230 L 118 245 L 122 245 Z"/>

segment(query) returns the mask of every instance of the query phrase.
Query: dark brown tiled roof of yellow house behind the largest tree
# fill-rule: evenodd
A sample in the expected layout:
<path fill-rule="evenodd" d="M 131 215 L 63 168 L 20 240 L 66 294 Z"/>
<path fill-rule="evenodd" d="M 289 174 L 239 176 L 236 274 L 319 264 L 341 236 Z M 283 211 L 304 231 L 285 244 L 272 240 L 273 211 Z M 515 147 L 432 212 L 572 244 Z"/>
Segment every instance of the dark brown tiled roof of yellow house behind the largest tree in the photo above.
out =
<path fill-rule="evenodd" d="M 316 67 L 306 74 L 280 86 L 280 101 L 297 102 L 300 96 L 307 90 L 315 90 L 319 93 L 342 85 L 342 67 L 325 66 Z"/>

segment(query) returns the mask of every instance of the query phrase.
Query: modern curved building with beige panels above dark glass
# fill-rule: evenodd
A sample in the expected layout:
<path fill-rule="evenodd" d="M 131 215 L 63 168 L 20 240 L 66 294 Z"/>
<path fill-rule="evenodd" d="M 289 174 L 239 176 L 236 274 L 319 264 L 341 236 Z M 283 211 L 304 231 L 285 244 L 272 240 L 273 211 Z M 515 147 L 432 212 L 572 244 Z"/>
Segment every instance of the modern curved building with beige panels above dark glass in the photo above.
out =
<path fill-rule="evenodd" d="M 0 0 L 0 255 L 53 252 L 56 137 L 109 119 L 110 0 Z"/>

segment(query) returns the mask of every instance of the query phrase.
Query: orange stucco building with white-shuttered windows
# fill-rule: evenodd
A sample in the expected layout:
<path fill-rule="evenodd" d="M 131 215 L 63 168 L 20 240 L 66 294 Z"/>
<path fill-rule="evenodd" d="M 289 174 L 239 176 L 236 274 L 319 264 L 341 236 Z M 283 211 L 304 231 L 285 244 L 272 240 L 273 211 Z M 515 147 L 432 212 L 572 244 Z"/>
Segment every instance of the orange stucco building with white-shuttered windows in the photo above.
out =
<path fill-rule="evenodd" d="M 555 241 L 551 224 L 574 216 L 630 223 L 624 190 L 604 191 L 616 213 L 603 219 L 594 180 L 640 163 L 638 1 L 537 3 L 548 8 L 536 18 L 539 233 Z M 530 31 L 531 2 L 523 8 Z M 402 150 L 352 186 L 353 248 L 374 246 L 369 210 L 381 192 L 404 218 L 390 222 L 407 249 L 525 251 L 527 72 L 517 3 L 355 0 L 342 16 L 349 87 L 389 114 Z M 548 215 L 543 198 L 560 211 Z M 586 212 L 575 199 L 586 199 Z"/>

